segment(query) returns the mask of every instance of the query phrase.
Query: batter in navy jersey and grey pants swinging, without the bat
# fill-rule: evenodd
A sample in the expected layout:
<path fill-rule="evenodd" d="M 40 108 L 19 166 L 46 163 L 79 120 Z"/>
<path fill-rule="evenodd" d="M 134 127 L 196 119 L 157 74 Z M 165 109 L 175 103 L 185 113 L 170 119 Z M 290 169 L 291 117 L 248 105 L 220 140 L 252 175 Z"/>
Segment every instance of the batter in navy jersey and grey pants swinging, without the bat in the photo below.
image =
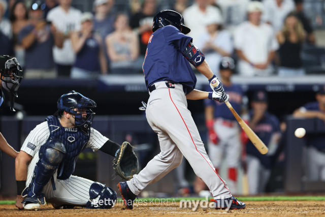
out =
<path fill-rule="evenodd" d="M 186 99 L 226 102 L 229 96 L 211 72 L 204 54 L 192 44 L 192 38 L 185 35 L 190 29 L 183 21 L 179 13 L 171 10 L 160 11 L 153 19 L 153 34 L 149 38 L 143 72 L 150 94 L 146 117 L 158 135 L 160 153 L 138 175 L 120 182 L 118 188 L 126 208 L 132 209 L 140 191 L 179 166 L 184 156 L 208 185 L 216 207 L 225 208 L 229 202 L 231 209 L 242 209 L 245 203 L 232 196 L 226 182 L 217 174 L 187 109 Z M 205 75 L 210 84 L 217 84 L 215 88 L 211 85 L 212 92 L 194 89 L 197 79 L 189 64 Z"/>

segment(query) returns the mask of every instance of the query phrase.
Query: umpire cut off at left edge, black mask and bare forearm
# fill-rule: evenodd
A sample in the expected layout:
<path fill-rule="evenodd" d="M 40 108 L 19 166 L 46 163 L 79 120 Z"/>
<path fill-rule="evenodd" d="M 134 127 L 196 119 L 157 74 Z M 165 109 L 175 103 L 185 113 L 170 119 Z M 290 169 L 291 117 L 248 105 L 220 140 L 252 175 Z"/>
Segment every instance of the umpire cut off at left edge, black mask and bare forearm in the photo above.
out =
<path fill-rule="evenodd" d="M 22 74 L 22 69 L 16 58 L 10 57 L 7 55 L 0 56 L 0 110 L 4 107 L 5 96 L 3 89 L 8 92 L 10 98 L 10 109 L 14 109 L 14 99 L 17 96 L 17 90 L 19 88 L 22 77 L 19 77 L 18 74 Z M 4 136 L 0 133 L 0 150 L 7 153 L 9 156 L 16 158 L 18 152 L 11 147 Z M 0 151 L 0 156 L 1 156 Z M 1 159 L 1 157 L 0 157 Z"/>

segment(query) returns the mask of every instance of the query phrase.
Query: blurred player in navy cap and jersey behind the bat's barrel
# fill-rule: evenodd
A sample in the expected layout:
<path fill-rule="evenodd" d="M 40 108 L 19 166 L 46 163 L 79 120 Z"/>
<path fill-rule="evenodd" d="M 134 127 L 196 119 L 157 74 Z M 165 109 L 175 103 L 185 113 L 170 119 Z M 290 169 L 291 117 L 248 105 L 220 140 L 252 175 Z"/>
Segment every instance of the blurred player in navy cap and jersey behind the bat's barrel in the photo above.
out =
<path fill-rule="evenodd" d="M 269 113 L 268 96 L 265 91 L 256 91 L 251 100 L 249 127 L 266 146 L 276 150 L 281 137 L 278 118 Z M 261 154 L 251 141 L 246 144 L 246 163 L 249 194 L 264 193 L 271 174 L 270 153 Z"/>

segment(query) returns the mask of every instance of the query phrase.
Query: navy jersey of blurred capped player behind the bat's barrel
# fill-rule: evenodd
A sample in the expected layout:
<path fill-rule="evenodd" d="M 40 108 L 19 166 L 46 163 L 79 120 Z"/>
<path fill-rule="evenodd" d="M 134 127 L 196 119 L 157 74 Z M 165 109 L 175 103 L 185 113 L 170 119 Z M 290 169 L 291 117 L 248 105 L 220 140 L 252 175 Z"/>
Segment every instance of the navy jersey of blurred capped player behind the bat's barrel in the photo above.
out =
<path fill-rule="evenodd" d="M 249 116 L 250 118 L 252 118 L 252 110 L 249 111 Z M 280 133 L 280 122 L 275 115 L 270 114 L 266 111 L 264 117 L 257 122 L 255 128 L 252 130 L 262 140 L 262 142 L 264 142 L 264 144 L 268 146 L 271 141 L 272 135 L 274 133 Z M 248 141 L 248 143 L 246 144 L 246 153 L 258 158 L 265 168 L 271 168 L 270 157 L 259 153 L 259 151 L 257 150 L 257 148 L 255 148 L 251 141 Z"/>

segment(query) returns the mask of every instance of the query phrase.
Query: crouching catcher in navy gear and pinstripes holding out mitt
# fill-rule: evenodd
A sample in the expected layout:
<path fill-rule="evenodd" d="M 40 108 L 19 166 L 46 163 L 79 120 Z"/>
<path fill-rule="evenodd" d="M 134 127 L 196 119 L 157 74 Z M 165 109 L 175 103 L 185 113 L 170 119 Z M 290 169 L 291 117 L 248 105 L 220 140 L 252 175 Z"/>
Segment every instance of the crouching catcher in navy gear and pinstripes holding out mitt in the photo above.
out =
<path fill-rule="evenodd" d="M 115 156 L 114 169 L 129 180 L 138 171 L 138 159 L 128 142 L 122 146 L 91 128 L 96 103 L 78 92 L 64 94 L 58 111 L 32 130 L 16 158 L 19 209 L 111 208 L 116 192 L 104 184 L 72 175 L 79 154 L 90 147 Z M 27 166 L 28 165 L 28 166 Z"/>

